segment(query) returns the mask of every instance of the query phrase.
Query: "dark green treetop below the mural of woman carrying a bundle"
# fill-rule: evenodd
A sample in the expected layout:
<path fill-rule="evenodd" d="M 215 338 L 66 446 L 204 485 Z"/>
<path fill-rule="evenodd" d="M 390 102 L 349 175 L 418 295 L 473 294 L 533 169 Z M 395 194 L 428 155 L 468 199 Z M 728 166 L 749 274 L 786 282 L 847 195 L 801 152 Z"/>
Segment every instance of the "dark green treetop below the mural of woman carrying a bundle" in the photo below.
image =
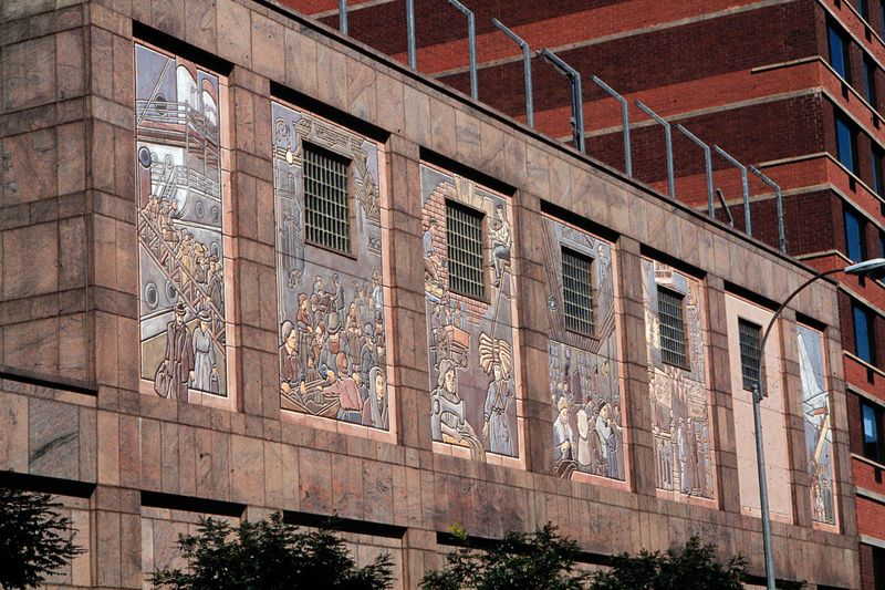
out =
<path fill-rule="evenodd" d="M 467 542 L 465 531 L 450 529 Z M 421 580 L 425 590 L 579 590 L 586 573 L 574 569 L 579 555 L 575 541 L 563 539 L 548 522 L 532 535 L 508 532 L 487 551 L 461 547 L 446 558 L 446 567 L 428 572 Z"/>

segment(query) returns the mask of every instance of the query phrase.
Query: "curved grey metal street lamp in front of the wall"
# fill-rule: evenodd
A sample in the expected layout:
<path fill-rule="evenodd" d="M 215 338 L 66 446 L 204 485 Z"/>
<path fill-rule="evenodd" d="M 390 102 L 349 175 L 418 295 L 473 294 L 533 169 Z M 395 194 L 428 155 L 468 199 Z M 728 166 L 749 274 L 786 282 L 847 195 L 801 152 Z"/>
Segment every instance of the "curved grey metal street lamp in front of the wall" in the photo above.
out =
<path fill-rule="evenodd" d="M 771 552 L 771 516 L 768 509 L 768 484 L 766 483 L 766 455 L 762 448 L 762 414 L 760 411 L 760 403 L 762 402 L 762 372 L 764 371 L 766 364 L 766 341 L 768 340 L 769 334 L 771 333 L 771 329 L 774 327 L 774 321 L 781 314 L 781 312 L 787 308 L 790 301 L 793 300 L 795 296 L 800 293 L 805 287 L 811 284 L 812 282 L 826 277 L 829 275 L 835 275 L 836 272 L 844 272 L 845 275 L 854 275 L 856 277 L 870 277 L 872 279 L 881 279 L 885 277 L 885 258 L 874 258 L 873 260 L 866 260 L 864 262 L 858 262 L 856 265 L 851 265 L 845 268 L 836 268 L 832 270 L 824 270 L 814 275 L 812 278 L 803 282 L 799 286 L 799 288 L 793 291 L 790 297 L 787 298 L 787 301 L 781 303 L 781 307 L 774 312 L 774 315 L 771 317 L 771 320 L 768 322 L 768 327 L 766 327 L 766 331 L 762 334 L 762 341 L 759 344 L 760 349 L 760 358 L 759 358 L 759 375 L 753 384 L 753 423 L 756 425 L 756 463 L 759 469 L 759 501 L 762 508 L 762 548 L 764 550 L 766 556 L 766 583 L 768 586 L 768 590 L 774 590 L 774 559 Z"/>

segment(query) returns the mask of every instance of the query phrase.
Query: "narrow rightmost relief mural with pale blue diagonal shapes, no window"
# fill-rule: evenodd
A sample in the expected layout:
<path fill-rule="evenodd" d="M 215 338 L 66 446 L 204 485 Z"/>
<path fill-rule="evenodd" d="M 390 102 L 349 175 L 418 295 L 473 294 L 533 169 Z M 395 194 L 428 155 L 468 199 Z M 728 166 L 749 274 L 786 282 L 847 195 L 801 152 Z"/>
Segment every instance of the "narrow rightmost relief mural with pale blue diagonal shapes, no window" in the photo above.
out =
<path fill-rule="evenodd" d="M 799 374 L 802 383 L 802 412 L 805 416 L 805 451 L 811 477 L 812 518 L 835 525 L 835 465 L 830 428 L 830 391 L 824 377 L 823 334 L 796 327 Z"/>

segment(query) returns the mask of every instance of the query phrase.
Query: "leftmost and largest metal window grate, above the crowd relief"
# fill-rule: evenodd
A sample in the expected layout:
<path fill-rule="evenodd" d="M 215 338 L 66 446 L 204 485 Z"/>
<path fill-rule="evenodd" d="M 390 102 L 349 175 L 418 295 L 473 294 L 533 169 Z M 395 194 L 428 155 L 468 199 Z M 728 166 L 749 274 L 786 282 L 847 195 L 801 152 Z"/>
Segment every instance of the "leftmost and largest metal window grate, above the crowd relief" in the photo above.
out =
<path fill-rule="evenodd" d="M 350 161 L 304 144 L 304 226 L 308 242 L 351 252 Z"/>

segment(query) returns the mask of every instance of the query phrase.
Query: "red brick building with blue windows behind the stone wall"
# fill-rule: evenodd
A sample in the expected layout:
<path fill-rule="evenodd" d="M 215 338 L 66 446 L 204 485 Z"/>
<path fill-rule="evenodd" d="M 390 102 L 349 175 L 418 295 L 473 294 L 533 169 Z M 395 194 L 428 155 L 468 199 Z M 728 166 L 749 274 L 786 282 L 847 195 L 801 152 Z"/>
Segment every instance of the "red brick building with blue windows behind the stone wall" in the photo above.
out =
<path fill-rule="evenodd" d="M 337 25 L 330 0 L 291 0 Z M 522 61 L 497 18 L 533 50 L 549 48 L 584 76 L 586 152 L 624 169 L 617 103 L 631 102 L 634 176 L 666 192 L 664 134 L 633 106 L 641 100 L 778 183 L 789 252 L 839 268 L 885 255 L 885 2 L 702 0 L 657 2 L 475 0 L 479 97 L 525 121 Z M 418 70 L 469 92 L 465 19 L 442 0 L 418 0 Z M 405 60 L 402 2 L 352 2 L 351 37 Z M 566 81 L 534 59 L 537 127 L 570 141 Z M 707 205 L 701 152 L 674 128 L 677 197 Z M 738 173 L 714 155 L 737 227 Z M 777 245 L 772 192 L 750 177 L 753 235 Z M 722 211 L 717 211 L 725 219 Z M 864 588 L 885 588 L 885 288 L 840 276 L 852 468 Z"/>

